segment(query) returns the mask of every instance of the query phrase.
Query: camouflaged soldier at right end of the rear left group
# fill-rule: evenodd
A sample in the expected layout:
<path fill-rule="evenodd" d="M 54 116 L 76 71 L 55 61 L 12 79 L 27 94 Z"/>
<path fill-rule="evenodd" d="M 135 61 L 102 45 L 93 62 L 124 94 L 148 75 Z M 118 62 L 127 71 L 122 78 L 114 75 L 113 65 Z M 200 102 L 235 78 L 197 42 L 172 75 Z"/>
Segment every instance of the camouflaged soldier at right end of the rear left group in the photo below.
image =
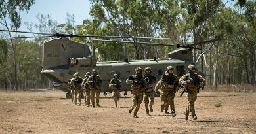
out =
<path fill-rule="evenodd" d="M 90 88 L 91 103 L 95 107 L 95 93 L 97 107 L 100 107 L 100 92 L 102 89 L 102 80 L 97 73 L 97 69 L 93 69 L 93 75 L 89 76 L 86 83 Z"/>

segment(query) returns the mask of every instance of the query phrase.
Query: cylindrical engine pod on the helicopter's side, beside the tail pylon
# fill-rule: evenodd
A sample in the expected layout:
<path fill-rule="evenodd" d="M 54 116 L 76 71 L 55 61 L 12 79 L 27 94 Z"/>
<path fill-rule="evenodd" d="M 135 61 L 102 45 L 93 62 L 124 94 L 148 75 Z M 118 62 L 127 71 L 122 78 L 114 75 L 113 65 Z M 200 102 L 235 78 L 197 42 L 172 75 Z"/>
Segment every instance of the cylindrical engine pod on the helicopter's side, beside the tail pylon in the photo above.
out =
<path fill-rule="evenodd" d="M 83 57 L 83 58 L 68 58 L 68 65 L 74 66 L 74 65 L 79 65 L 81 67 L 93 67 L 96 65 L 97 59 L 88 56 L 88 57 Z"/>

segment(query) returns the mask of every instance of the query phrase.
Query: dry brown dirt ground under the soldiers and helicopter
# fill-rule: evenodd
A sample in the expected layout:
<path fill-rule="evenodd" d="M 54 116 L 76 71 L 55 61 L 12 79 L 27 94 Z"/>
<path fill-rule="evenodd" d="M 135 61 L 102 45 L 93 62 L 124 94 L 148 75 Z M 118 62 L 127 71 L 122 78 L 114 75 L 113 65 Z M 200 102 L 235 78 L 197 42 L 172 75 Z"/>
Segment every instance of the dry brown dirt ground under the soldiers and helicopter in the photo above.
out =
<path fill-rule="evenodd" d="M 123 94 L 123 93 L 122 93 Z M 102 107 L 75 106 L 66 93 L 0 91 L 0 133 L 256 133 L 256 93 L 201 92 L 198 120 L 184 119 L 186 97 L 175 97 L 177 116 L 160 112 L 160 97 L 147 116 L 144 101 L 133 118 L 131 95 L 114 107 L 111 94 L 100 97 Z"/>

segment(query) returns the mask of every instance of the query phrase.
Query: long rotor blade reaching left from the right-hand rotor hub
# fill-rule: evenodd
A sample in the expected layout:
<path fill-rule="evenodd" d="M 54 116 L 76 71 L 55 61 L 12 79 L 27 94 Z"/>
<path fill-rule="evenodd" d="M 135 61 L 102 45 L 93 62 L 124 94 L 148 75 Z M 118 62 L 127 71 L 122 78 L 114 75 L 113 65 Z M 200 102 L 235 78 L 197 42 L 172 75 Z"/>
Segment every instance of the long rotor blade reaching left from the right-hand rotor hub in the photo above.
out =
<path fill-rule="evenodd" d="M 92 41 L 106 41 L 106 42 L 123 42 L 130 44 L 149 44 L 154 46 L 175 46 L 177 48 L 182 47 L 179 44 L 160 44 L 160 43 L 150 43 L 150 42 L 131 42 L 131 41 L 113 41 L 113 40 L 103 40 L 103 39 L 91 39 Z"/>

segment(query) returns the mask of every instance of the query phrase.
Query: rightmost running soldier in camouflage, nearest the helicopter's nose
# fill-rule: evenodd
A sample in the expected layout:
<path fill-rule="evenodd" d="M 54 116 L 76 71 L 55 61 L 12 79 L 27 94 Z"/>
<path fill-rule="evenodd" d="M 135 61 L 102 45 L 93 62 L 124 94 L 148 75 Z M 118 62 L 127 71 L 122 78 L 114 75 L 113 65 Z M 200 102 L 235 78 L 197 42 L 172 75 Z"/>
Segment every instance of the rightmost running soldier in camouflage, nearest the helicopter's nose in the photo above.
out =
<path fill-rule="evenodd" d="M 196 67 L 194 65 L 188 65 L 188 71 L 189 73 L 183 75 L 179 80 L 179 82 L 186 87 L 186 98 L 188 99 L 185 119 L 188 120 L 189 113 L 191 112 L 193 120 L 196 120 L 198 117 L 196 116 L 194 103 L 199 89 L 205 86 L 205 79 L 201 75 L 195 73 Z"/>

